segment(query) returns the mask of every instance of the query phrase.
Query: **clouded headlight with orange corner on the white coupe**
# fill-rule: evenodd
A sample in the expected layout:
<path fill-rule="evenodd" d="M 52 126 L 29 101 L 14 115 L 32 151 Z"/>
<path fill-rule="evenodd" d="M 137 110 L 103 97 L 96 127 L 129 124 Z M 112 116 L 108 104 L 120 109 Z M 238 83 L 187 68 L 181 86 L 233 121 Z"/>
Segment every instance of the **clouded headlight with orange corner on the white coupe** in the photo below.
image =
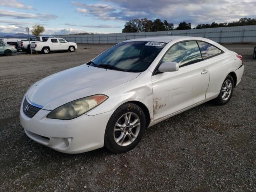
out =
<path fill-rule="evenodd" d="M 106 99 L 108 99 L 108 96 L 99 94 L 74 100 L 54 109 L 48 114 L 47 118 L 62 120 L 74 119 L 98 106 Z"/>

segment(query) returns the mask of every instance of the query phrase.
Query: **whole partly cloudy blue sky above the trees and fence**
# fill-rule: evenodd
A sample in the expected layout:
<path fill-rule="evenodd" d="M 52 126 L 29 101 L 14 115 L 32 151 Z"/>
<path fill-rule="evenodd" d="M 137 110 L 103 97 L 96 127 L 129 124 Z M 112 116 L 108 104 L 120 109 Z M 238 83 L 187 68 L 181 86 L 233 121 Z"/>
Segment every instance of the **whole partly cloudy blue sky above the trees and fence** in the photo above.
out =
<path fill-rule="evenodd" d="M 256 18 L 256 0 L 0 0 L 0 33 L 25 32 L 40 24 L 45 34 L 122 32 L 134 18 L 160 18 L 192 27 Z"/>

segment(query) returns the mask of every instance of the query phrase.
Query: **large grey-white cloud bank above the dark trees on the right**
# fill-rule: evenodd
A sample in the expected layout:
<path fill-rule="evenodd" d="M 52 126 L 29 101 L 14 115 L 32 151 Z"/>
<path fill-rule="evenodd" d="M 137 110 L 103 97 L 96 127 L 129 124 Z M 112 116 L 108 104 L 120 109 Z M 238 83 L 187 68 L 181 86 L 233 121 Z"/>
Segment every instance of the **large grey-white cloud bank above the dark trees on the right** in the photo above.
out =
<path fill-rule="evenodd" d="M 231 22 L 243 17 L 256 17 L 255 0 L 102 0 L 104 4 L 72 2 L 76 11 L 100 20 L 126 22 L 143 18 L 166 19 L 176 25 Z"/>

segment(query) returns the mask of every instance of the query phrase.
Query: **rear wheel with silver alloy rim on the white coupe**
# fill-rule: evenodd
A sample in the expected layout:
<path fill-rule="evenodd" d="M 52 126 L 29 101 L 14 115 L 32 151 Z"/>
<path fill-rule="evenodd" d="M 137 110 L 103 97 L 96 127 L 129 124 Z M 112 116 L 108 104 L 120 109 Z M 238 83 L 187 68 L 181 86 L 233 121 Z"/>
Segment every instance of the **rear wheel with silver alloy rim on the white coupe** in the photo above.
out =
<path fill-rule="evenodd" d="M 232 97 L 234 89 L 234 80 L 231 75 L 228 75 L 224 82 L 222 83 L 220 93 L 214 102 L 218 105 L 224 105 L 229 102 L 230 98 Z"/>

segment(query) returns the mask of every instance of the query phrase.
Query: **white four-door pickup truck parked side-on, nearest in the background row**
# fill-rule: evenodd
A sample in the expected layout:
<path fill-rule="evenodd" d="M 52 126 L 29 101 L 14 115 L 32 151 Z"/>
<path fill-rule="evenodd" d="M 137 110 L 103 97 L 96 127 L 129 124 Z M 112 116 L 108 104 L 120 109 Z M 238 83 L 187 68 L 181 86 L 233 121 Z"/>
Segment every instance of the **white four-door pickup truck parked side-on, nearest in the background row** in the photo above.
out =
<path fill-rule="evenodd" d="M 62 38 L 45 38 L 43 42 L 34 42 L 31 44 L 32 51 L 48 54 L 51 51 L 69 51 L 74 52 L 77 44 L 68 42 Z"/>

